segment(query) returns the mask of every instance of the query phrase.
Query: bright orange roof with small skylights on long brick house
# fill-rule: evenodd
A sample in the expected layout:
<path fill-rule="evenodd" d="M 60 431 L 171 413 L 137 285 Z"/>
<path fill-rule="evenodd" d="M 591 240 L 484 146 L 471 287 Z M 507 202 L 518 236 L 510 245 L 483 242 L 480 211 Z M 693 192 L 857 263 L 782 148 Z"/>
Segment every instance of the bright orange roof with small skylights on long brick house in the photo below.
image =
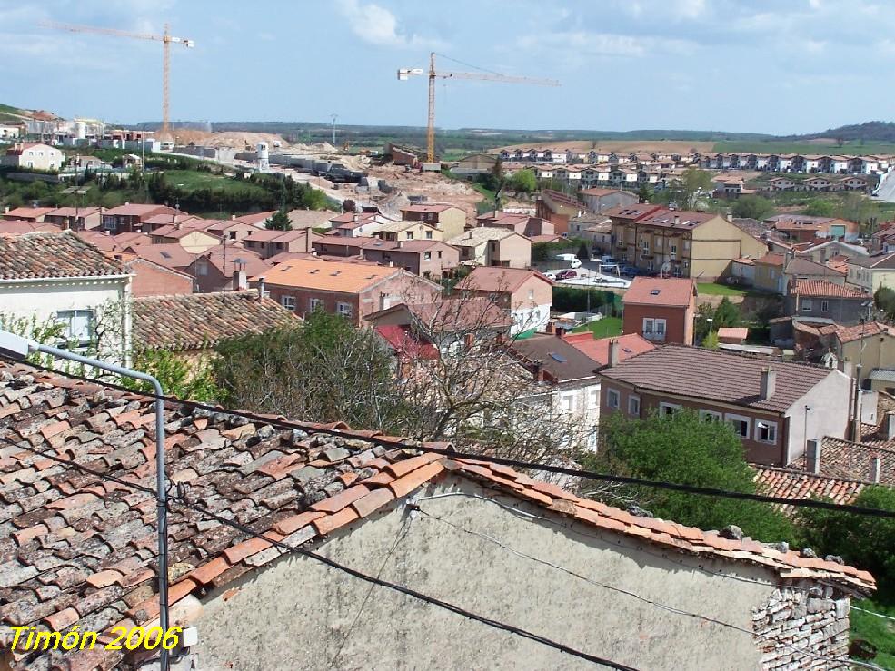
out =
<path fill-rule="evenodd" d="M 378 281 L 404 272 L 401 268 L 369 266 L 341 261 L 295 259 L 265 273 L 268 284 L 302 289 L 360 293 Z M 252 278 L 257 281 L 257 277 Z"/>

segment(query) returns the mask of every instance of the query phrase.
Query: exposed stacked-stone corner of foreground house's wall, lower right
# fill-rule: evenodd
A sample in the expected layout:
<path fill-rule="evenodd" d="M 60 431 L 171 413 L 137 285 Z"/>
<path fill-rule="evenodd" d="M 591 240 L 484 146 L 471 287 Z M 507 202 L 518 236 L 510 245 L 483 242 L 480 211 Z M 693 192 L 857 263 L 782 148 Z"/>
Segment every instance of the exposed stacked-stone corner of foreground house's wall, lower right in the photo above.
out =
<path fill-rule="evenodd" d="M 761 668 L 801 671 L 848 667 L 850 605 L 848 596 L 835 594 L 829 586 L 775 589 L 764 605 L 752 608 Z M 829 658 L 843 661 L 840 664 Z"/>

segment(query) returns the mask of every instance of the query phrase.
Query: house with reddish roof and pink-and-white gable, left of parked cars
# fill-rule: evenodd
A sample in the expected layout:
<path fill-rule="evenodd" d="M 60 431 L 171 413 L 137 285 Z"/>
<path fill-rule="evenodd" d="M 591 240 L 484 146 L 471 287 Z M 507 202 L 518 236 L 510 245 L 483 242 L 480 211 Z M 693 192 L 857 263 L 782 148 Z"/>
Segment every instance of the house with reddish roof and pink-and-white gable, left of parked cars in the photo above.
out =
<path fill-rule="evenodd" d="M 540 331 L 550 321 L 553 282 L 538 271 L 479 266 L 457 283 L 456 291 L 485 296 L 508 311 L 511 335 Z"/>

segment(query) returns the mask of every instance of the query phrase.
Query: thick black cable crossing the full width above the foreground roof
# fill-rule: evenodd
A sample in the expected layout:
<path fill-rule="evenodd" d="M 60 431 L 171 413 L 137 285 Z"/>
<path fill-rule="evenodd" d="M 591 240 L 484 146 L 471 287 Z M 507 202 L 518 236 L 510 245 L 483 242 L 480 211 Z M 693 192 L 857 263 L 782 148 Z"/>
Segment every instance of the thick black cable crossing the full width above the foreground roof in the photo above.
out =
<path fill-rule="evenodd" d="M 10 360 L 15 363 L 20 363 L 15 359 L 7 357 L 3 354 L 0 354 L 0 359 Z M 130 394 L 134 394 L 136 396 L 142 396 L 146 399 L 155 399 L 155 395 L 142 390 L 133 390 L 123 385 L 114 384 L 112 382 L 105 382 L 104 380 L 93 380 L 91 378 L 87 378 L 82 375 L 75 375 L 74 373 L 65 372 L 62 370 L 54 370 L 52 368 L 42 366 L 39 364 L 31 363 L 30 361 L 27 365 L 32 366 L 38 370 L 45 370 L 47 372 L 54 373 L 56 375 L 62 375 L 64 377 L 68 377 L 74 380 L 84 380 L 85 382 L 91 383 L 99 383 L 103 384 L 105 387 L 115 390 L 122 390 Z M 244 419 L 252 419 L 253 421 L 263 422 L 264 424 L 269 424 L 273 427 L 278 427 L 281 429 L 308 429 L 308 426 L 305 424 L 301 424 L 299 422 L 289 421 L 286 419 L 277 419 L 275 417 L 264 416 L 261 414 L 257 414 L 254 412 L 248 412 L 246 410 L 227 410 L 224 408 L 220 408 L 218 406 L 208 405 L 207 403 L 201 403 L 194 400 L 183 400 L 178 399 L 174 396 L 163 396 L 163 400 L 176 403 L 185 408 L 194 408 L 199 410 L 206 410 L 208 412 L 221 413 L 226 415 L 233 415 L 234 417 L 242 417 Z M 313 430 L 319 433 L 325 433 L 331 436 L 343 436 L 343 431 L 339 429 L 326 429 L 324 427 L 313 427 Z M 780 506 L 793 506 L 796 508 L 820 508 L 822 510 L 833 510 L 840 513 L 849 513 L 853 515 L 864 515 L 868 517 L 876 517 L 876 518 L 895 518 L 895 510 L 882 510 L 880 508 L 864 508 L 862 506 L 853 506 L 850 504 L 844 503 L 829 503 L 827 501 L 821 501 L 814 498 L 783 498 L 783 497 L 773 497 L 767 496 L 764 494 L 751 494 L 747 492 L 739 492 L 739 491 L 731 491 L 728 489 L 719 489 L 719 488 L 708 488 L 708 487 L 696 487 L 693 485 L 681 485 L 676 482 L 668 482 L 665 480 L 648 480 L 648 479 L 640 479 L 640 478 L 631 478 L 629 476 L 620 476 L 620 475 L 612 475 L 609 473 L 598 473 L 596 471 L 591 470 L 582 470 L 582 469 L 569 469 L 563 466 L 553 466 L 552 464 L 539 464 L 532 463 L 530 461 L 520 461 L 518 459 L 505 459 L 503 457 L 495 457 L 492 455 L 480 454 L 477 452 L 461 452 L 456 449 L 442 449 L 442 448 L 433 448 L 431 446 L 423 445 L 422 443 L 415 444 L 396 444 L 394 442 L 390 442 L 388 440 L 377 439 L 375 436 L 365 437 L 365 440 L 368 442 L 372 442 L 376 445 L 380 445 L 387 449 L 395 449 L 396 447 L 403 447 L 405 449 L 414 449 L 420 452 L 429 452 L 432 454 L 440 454 L 444 457 L 448 457 L 450 459 L 471 459 L 475 461 L 482 461 L 485 463 L 493 463 L 499 464 L 501 466 L 510 466 L 514 469 L 528 469 L 528 470 L 540 470 L 546 473 L 554 473 L 557 475 L 566 475 L 572 476 L 574 478 L 582 478 L 589 480 L 596 480 L 599 482 L 615 482 L 619 484 L 625 485 L 636 485 L 639 487 L 646 488 L 655 488 L 655 489 L 668 489 L 671 491 L 679 491 L 686 494 L 696 494 L 698 496 L 706 496 L 711 498 L 732 498 L 737 500 L 746 500 L 746 501 L 758 501 L 760 503 L 771 503 L 777 504 Z M 796 471 L 794 471 L 796 472 Z"/>

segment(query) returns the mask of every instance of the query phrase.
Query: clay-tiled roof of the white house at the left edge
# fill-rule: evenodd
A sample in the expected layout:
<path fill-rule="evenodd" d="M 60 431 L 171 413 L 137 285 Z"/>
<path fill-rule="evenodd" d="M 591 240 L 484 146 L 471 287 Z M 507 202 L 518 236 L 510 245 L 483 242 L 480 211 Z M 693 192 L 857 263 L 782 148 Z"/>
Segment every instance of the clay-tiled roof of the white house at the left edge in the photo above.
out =
<path fill-rule="evenodd" d="M 121 263 L 73 232 L 0 234 L 0 280 L 126 274 Z"/>

